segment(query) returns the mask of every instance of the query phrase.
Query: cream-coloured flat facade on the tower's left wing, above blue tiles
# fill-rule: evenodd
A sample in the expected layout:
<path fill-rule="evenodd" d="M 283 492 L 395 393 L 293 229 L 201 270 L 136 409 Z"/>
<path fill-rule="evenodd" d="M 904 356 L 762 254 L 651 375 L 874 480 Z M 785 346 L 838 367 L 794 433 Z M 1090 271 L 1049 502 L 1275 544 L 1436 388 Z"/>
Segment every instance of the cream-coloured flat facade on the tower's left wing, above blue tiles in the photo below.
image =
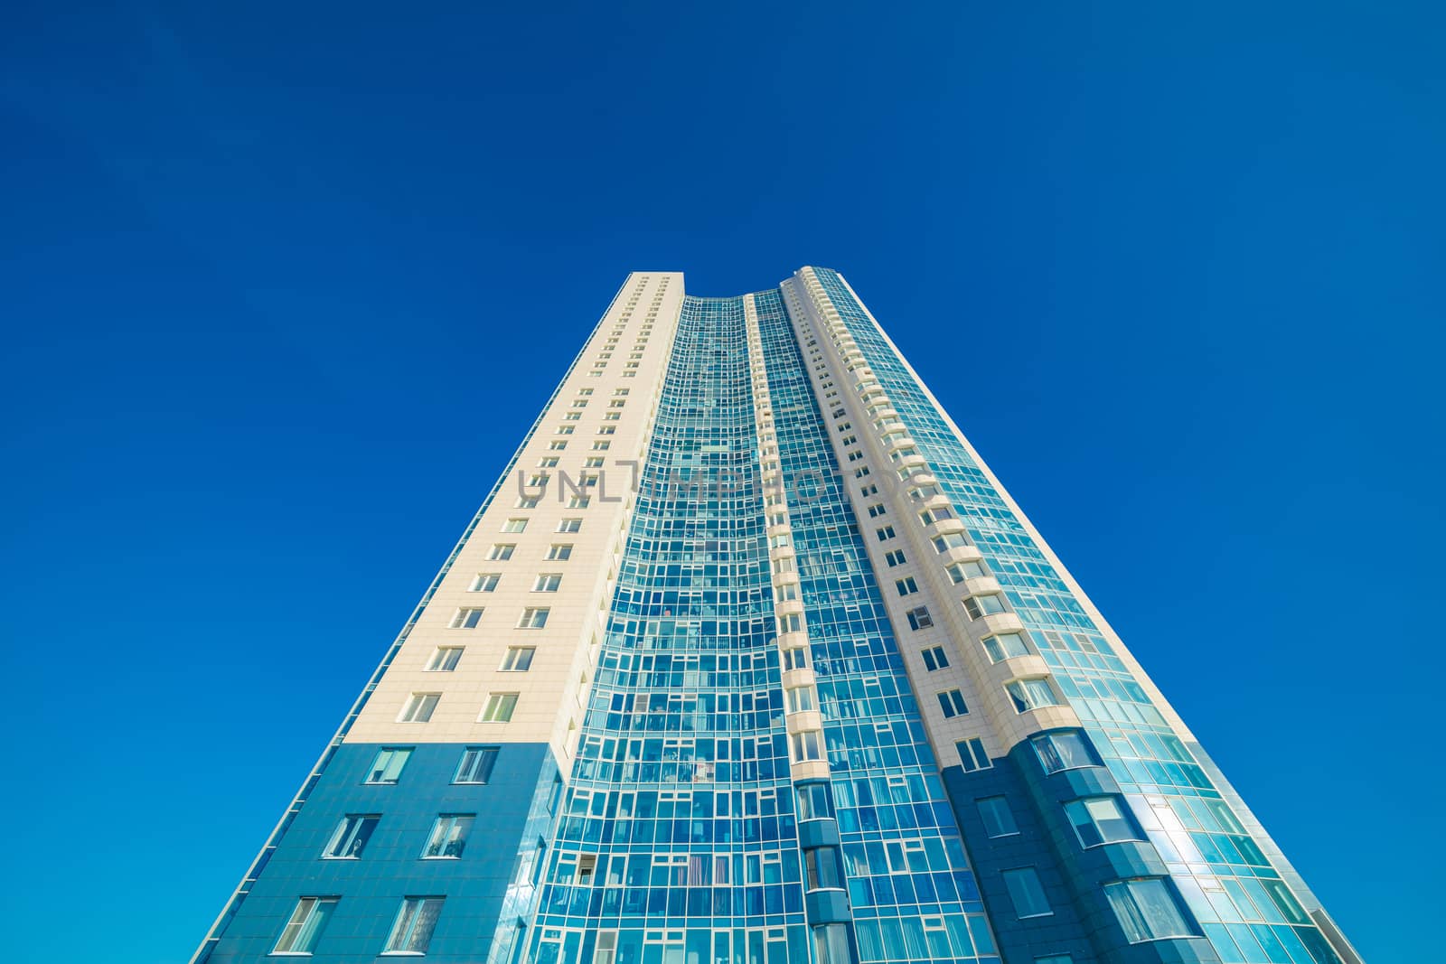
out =
<path fill-rule="evenodd" d="M 547 743 L 567 772 L 681 304 L 683 275 L 628 276 L 346 734 L 348 743 Z M 590 475 L 597 486 L 583 487 Z M 586 507 L 571 507 L 573 486 L 587 493 Z M 536 496 L 536 504 L 519 507 L 525 496 Z M 525 529 L 509 530 L 519 519 Z M 551 558 L 562 552 L 554 546 L 568 546 L 568 558 Z M 495 588 L 480 591 L 490 577 Z M 538 591 L 547 577 L 560 577 L 557 588 Z M 541 608 L 547 624 L 526 627 L 523 616 Z M 482 610 L 470 627 L 466 616 L 458 620 L 469 610 Z M 440 647 L 461 647 L 454 669 L 428 669 Z M 505 669 L 509 649 L 534 650 L 526 672 Z M 405 718 L 416 694 L 437 695 L 425 723 Z M 489 701 L 505 697 L 516 700 L 510 718 L 484 720 Z"/>

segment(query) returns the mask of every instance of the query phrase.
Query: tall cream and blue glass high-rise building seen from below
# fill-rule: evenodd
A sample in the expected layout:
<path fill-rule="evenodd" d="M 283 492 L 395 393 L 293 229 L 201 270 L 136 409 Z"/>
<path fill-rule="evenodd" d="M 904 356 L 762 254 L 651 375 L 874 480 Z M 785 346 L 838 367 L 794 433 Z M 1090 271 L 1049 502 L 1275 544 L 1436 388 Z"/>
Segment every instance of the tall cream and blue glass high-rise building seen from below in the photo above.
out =
<path fill-rule="evenodd" d="M 195 960 L 301 954 L 1359 961 L 817 267 L 628 277 Z"/>

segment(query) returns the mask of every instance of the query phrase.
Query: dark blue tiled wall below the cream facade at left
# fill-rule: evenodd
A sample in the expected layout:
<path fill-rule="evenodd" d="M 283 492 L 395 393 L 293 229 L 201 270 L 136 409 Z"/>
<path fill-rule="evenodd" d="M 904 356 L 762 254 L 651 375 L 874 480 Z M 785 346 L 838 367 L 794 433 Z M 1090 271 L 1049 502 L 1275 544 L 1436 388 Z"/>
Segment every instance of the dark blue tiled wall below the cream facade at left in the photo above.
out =
<path fill-rule="evenodd" d="M 302 896 L 340 898 L 309 958 L 314 964 L 373 960 L 406 896 L 445 898 L 428 961 L 484 960 L 508 885 L 518 873 L 529 811 L 538 801 L 545 805 L 555 778 L 551 752 L 542 743 L 503 744 L 490 783 L 458 785 L 451 780 L 466 747 L 422 743 L 398 783 L 364 783 L 380 749 L 347 743 L 337 750 L 221 934 L 210 964 L 266 958 Z M 380 814 L 382 819 L 359 858 L 322 860 L 322 848 L 347 814 Z M 457 860 L 421 858 L 438 814 L 477 815 Z"/>

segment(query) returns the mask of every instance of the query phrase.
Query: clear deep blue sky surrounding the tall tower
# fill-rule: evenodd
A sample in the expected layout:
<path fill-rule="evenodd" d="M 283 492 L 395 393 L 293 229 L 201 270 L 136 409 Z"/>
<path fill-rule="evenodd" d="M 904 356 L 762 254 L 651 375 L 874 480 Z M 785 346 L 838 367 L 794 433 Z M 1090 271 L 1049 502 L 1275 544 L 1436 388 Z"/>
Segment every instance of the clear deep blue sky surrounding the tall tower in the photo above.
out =
<path fill-rule="evenodd" d="M 813 263 L 1437 960 L 1446 22 L 1178 7 L 7 4 L 6 958 L 184 961 L 625 273 Z"/>

